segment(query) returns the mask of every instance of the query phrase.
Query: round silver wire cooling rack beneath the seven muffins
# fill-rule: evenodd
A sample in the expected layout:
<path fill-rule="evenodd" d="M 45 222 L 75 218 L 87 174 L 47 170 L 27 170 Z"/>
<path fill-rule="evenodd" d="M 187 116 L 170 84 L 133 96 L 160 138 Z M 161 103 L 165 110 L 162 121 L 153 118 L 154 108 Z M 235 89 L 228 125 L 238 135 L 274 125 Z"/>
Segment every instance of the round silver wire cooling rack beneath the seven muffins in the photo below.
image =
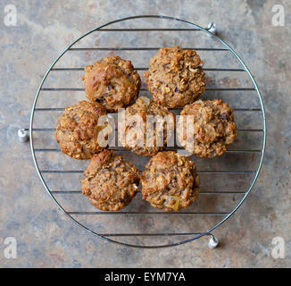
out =
<path fill-rule="evenodd" d="M 224 156 L 192 157 L 201 178 L 192 206 L 165 213 L 141 200 L 141 192 L 118 212 L 103 212 L 81 194 L 80 180 L 88 161 L 60 152 L 55 123 L 66 106 L 86 99 L 81 76 L 87 64 L 108 55 L 132 61 L 142 79 L 140 96 L 150 96 L 142 73 L 162 46 L 195 49 L 204 60 L 207 86 L 202 99 L 221 98 L 235 110 L 237 139 Z M 179 114 L 180 109 L 173 109 Z M 254 187 L 265 149 L 266 123 L 262 97 L 236 52 L 223 40 L 192 22 L 168 16 L 141 15 L 111 21 L 88 31 L 65 48 L 46 71 L 37 90 L 29 125 L 37 173 L 62 213 L 104 240 L 138 248 L 170 247 L 196 240 L 224 223 Z M 122 147 L 117 154 L 142 171 L 149 157 Z"/>

